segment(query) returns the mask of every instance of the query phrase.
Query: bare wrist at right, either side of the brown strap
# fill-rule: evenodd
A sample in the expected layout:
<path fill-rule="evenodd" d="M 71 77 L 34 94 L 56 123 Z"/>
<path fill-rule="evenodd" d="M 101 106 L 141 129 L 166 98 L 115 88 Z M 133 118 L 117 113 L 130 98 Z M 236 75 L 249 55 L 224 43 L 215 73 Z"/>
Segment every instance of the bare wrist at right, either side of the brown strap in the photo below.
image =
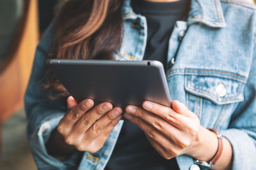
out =
<path fill-rule="evenodd" d="M 223 151 L 220 158 L 212 169 L 231 169 L 232 168 L 232 146 L 230 142 L 223 138 Z M 218 139 L 214 132 L 211 132 L 202 127 L 202 139 L 198 146 L 191 151 L 189 155 L 198 160 L 206 160 L 207 162 L 212 159 L 218 148 Z"/>

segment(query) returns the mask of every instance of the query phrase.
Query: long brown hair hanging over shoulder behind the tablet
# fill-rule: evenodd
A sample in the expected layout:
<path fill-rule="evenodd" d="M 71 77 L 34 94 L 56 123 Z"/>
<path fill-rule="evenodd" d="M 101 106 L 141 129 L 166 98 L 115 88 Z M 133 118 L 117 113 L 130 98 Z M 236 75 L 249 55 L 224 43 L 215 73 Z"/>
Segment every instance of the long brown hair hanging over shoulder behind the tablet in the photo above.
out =
<path fill-rule="evenodd" d="M 122 43 L 124 0 L 66 0 L 60 3 L 56 34 L 47 59 L 113 59 Z M 44 85 L 51 99 L 68 96 L 53 75 Z"/>

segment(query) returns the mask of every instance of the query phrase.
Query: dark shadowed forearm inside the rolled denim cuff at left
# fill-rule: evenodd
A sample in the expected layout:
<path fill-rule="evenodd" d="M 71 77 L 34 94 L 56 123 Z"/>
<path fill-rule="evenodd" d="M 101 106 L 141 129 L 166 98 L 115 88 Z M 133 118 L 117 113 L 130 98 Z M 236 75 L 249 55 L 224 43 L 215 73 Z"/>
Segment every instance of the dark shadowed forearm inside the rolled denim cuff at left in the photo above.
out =
<path fill-rule="evenodd" d="M 45 146 L 49 155 L 54 157 L 65 157 L 76 151 L 74 146 L 65 143 L 65 139 L 60 132 L 57 131 L 57 129 L 52 131 L 51 136 Z"/>

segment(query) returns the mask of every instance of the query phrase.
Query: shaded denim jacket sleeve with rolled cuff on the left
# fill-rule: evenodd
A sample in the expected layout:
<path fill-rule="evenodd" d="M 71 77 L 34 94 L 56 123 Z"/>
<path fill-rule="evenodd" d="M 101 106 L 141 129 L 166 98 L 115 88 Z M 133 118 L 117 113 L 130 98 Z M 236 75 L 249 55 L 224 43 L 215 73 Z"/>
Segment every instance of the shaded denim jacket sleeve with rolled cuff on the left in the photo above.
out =
<path fill-rule="evenodd" d="M 66 99 L 50 101 L 42 89 L 47 78 L 44 63 L 45 57 L 51 49 L 54 23 L 52 22 L 49 26 L 36 48 L 33 69 L 24 98 L 28 120 L 27 134 L 38 169 L 68 169 L 69 167 L 74 169 L 74 166 L 78 165 L 80 152 L 74 153 L 67 160 L 61 162 L 51 157 L 45 149 L 45 142 L 67 110 Z"/>

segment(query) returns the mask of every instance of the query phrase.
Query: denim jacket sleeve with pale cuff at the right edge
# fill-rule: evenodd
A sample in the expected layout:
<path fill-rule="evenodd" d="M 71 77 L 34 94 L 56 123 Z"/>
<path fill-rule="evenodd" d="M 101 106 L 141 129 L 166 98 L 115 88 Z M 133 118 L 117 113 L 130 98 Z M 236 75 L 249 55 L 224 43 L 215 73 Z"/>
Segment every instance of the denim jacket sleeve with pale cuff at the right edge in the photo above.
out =
<path fill-rule="evenodd" d="M 227 130 L 221 131 L 233 148 L 233 170 L 255 169 L 256 162 L 256 45 L 244 101 L 239 103 Z"/>

